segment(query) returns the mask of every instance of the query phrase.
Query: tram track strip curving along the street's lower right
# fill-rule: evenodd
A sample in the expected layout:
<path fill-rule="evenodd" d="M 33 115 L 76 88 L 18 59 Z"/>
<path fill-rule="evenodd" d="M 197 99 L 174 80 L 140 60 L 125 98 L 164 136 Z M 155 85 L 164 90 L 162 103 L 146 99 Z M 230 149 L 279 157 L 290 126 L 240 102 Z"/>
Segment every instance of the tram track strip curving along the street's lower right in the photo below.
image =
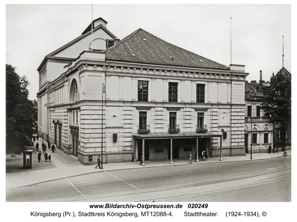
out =
<path fill-rule="evenodd" d="M 150 201 L 166 198 L 173 198 L 179 196 L 195 195 L 205 192 L 214 192 L 226 189 L 234 189 L 238 187 L 245 187 L 257 185 L 265 182 L 276 181 L 279 179 L 290 178 L 291 167 L 282 167 L 280 169 L 253 173 L 242 177 L 231 177 L 220 180 L 209 180 L 203 182 L 195 182 L 189 184 L 180 184 L 172 186 L 163 186 L 157 188 L 148 188 L 141 190 L 132 190 L 126 192 L 105 193 L 99 195 L 77 196 L 71 198 L 53 199 L 49 201 L 54 202 L 75 202 L 75 201 L 116 201 L 116 202 L 134 202 L 134 201 Z M 234 184 L 234 182 L 237 183 Z M 129 181 L 131 182 L 131 181 Z"/>

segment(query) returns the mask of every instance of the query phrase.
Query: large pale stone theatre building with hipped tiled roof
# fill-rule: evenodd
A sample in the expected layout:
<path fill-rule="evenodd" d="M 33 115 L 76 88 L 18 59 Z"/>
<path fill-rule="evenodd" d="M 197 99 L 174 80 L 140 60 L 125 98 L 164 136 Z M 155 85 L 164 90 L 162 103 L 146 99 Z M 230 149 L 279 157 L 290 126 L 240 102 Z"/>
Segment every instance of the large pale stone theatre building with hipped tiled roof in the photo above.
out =
<path fill-rule="evenodd" d="M 245 155 L 245 66 L 142 29 L 120 41 L 106 24 L 93 21 L 93 51 L 90 24 L 38 68 L 39 129 L 51 143 L 84 164 L 101 145 L 103 163 L 220 156 L 221 147 Z"/>

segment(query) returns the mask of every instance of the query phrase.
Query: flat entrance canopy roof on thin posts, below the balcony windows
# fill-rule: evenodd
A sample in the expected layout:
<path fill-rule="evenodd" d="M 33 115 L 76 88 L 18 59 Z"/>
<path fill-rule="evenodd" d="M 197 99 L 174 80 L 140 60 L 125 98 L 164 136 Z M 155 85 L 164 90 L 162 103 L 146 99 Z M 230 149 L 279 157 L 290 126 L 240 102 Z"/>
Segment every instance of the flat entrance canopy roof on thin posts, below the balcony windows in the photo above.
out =
<path fill-rule="evenodd" d="M 135 134 L 134 138 L 138 139 L 170 139 L 170 138 L 207 138 L 207 137 L 222 137 L 222 134 L 213 133 L 148 133 Z"/>

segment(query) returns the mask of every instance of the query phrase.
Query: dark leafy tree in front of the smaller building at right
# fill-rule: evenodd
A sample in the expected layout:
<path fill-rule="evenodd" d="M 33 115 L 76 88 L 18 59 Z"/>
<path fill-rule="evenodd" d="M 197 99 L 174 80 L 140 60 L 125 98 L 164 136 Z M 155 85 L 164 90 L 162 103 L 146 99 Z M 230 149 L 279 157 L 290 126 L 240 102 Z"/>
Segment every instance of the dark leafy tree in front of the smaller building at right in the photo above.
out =
<path fill-rule="evenodd" d="M 265 95 L 261 109 L 271 115 L 274 126 L 280 125 L 281 132 L 291 129 L 291 74 L 283 67 L 270 79 L 270 86 L 263 88 Z M 286 136 L 283 137 L 283 150 Z"/>

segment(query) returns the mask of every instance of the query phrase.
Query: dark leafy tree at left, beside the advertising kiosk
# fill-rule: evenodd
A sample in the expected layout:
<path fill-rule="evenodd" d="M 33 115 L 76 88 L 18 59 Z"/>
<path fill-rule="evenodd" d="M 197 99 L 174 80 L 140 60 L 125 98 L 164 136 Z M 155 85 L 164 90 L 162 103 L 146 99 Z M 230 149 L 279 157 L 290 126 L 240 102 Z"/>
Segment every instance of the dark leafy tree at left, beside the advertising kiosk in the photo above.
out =
<path fill-rule="evenodd" d="M 29 82 L 26 76 L 15 73 L 15 67 L 6 64 L 6 151 L 21 154 L 33 146 L 36 109 L 28 99 Z"/>

